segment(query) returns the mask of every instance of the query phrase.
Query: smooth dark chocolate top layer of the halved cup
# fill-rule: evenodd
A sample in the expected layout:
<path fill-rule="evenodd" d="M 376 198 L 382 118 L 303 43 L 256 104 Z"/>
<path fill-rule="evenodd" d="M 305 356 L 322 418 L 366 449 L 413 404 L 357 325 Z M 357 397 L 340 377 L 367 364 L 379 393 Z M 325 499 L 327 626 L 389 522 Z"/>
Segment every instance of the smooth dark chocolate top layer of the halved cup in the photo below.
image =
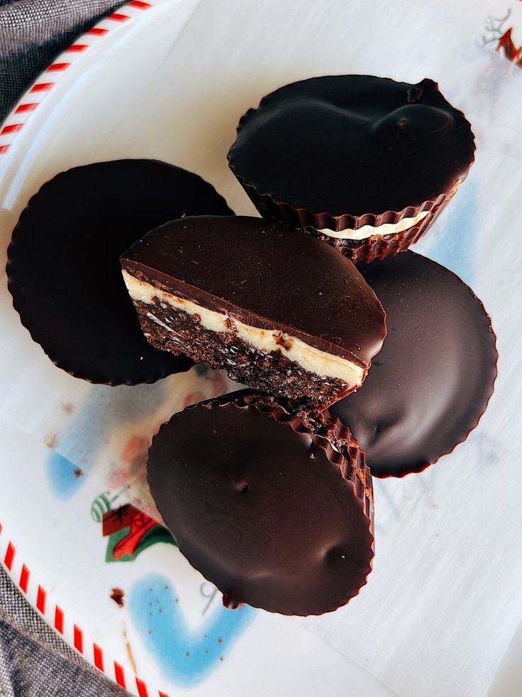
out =
<path fill-rule="evenodd" d="M 172 221 L 136 242 L 121 262 L 167 292 L 365 367 L 386 333 L 382 307 L 351 261 L 261 218 Z"/>

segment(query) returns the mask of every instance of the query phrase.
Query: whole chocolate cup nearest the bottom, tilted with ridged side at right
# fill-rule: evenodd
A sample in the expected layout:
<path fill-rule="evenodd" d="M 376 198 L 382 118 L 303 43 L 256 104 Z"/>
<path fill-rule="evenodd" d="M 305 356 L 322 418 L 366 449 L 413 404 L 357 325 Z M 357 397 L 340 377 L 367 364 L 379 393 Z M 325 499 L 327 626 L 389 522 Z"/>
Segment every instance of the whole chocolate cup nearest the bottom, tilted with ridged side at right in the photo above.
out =
<path fill-rule="evenodd" d="M 305 425 L 248 391 L 199 404 L 155 436 L 148 479 L 179 549 L 230 607 L 318 615 L 366 582 L 371 478 L 337 419 Z"/>

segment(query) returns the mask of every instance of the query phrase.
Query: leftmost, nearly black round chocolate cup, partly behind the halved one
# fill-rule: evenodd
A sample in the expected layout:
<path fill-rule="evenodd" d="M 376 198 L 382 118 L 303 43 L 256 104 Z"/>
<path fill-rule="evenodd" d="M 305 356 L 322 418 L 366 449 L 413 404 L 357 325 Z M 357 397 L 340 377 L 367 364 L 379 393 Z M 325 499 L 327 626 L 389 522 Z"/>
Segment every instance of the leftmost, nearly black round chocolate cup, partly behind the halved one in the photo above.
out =
<path fill-rule="evenodd" d="M 59 367 L 92 382 L 154 382 L 192 362 L 140 330 L 119 255 L 152 227 L 231 210 L 199 176 L 151 160 L 77 167 L 43 185 L 9 247 L 13 306 Z"/>

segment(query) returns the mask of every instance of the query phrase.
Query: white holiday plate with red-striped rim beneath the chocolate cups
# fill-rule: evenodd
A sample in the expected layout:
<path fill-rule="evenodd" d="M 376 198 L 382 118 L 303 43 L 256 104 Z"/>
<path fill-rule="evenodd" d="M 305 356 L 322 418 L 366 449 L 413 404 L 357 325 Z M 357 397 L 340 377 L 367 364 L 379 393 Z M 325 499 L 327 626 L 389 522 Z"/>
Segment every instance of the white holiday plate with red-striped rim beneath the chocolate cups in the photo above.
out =
<path fill-rule="evenodd" d="M 321 636 L 403 694 L 477 697 L 519 620 L 518 571 L 509 545 L 501 548 L 501 533 L 513 529 L 520 509 L 505 487 L 518 472 L 513 416 L 499 403 L 504 394 L 509 404 L 509 373 L 516 365 L 516 335 L 504 312 L 513 267 L 510 253 L 491 246 L 488 236 L 495 226 L 496 234 L 508 229 L 513 205 L 518 210 L 501 178 L 520 182 L 513 154 L 516 109 L 510 107 L 518 102 L 499 89 L 501 80 L 511 80 L 514 95 L 518 83 L 511 74 L 499 77 L 494 60 L 489 65 L 475 55 L 482 20 L 477 42 L 466 43 L 446 31 L 440 3 L 426 3 L 417 35 L 422 40 L 412 41 L 418 7 L 409 0 L 393 5 L 376 9 L 354 0 L 348 12 L 340 0 L 135 0 L 60 55 L 0 128 L 3 268 L 11 230 L 30 195 L 56 173 L 84 163 L 123 157 L 172 162 L 211 181 L 236 212 L 253 213 L 228 171 L 226 153 L 240 115 L 291 80 L 330 72 L 393 74 L 393 62 L 393 70 L 412 82 L 443 75 L 450 99 L 465 99 L 478 124 L 481 157 L 455 197 L 451 219 L 445 218 L 452 225 L 439 226 L 442 234 L 434 227 L 423 250 L 472 282 L 487 303 L 504 361 L 496 394 L 477 431 L 435 468 L 376 483 L 379 537 L 370 583 L 345 610 L 308 622 L 316 634 L 293 619 L 223 610 L 213 588 L 146 517 L 136 514 L 121 529 L 116 524 L 111 536 L 101 534 L 103 513 L 126 502 L 125 482 L 140 469 L 153 426 L 185 401 L 223 387 L 213 382 L 218 378 L 194 370 L 155 386 L 113 389 L 74 380 L 30 340 L 1 277 L 0 561 L 50 626 L 135 694 L 390 694 Z M 424 31 L 427 26 L 436 31 Z M 376 36 L 391 37 L 383 50 Z M 450 63 L 456 55 L 460 65 Z M 476 82 L 467 85 L 462 71 Z M 477 107 L 474 93 L 487 108 Z M 504 148 L 504 162 L 490 157 L 493 141 L 496 151 L 498 144 Z M 470 221 L 470 210 L 480 215 Z M 502 457 L 492 471 L 496 452 Z M 473 493 L 462 499 L 460 490 Z M 504 502 L 499 510 L 498 500 Z M 466 504 L 467 514 L 455 519 L 453 512 Z M 456 524 L 460 534 L 454 534 Z M 478 528 L 481 536 L 474 535 Z M 484 563 L 484 546 L 492 549 L 495 542 L 504 555 L 499 568 Z M 472 565 L 467 574 L 460 568 L 470 549 L 479 573 Z M 394 595 L 390 607 L 389 589 L 398 578 L 408 593 Z M 123 607 L 111 599 L 113 588 L 123 590 Z M 492 597 L 504 608 L 501 622 L 484 602 Z M 516 694 L 517 684 L 511 671 L 504 694 Z"/>

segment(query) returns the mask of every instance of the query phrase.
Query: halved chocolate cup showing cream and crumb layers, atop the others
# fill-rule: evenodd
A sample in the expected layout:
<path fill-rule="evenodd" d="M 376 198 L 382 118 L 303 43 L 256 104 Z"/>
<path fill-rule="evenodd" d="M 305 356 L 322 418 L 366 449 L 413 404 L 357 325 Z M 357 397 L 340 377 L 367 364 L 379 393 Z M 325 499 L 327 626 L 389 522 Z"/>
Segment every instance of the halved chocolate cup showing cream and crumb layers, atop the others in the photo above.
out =
<path fill-rule="evenodd" d="M 386 335 L 355 266 L 320 240 L 249 217 L 187 217 L 121 258 L 152 345 L 324 409 L 360 387 Z"/>

